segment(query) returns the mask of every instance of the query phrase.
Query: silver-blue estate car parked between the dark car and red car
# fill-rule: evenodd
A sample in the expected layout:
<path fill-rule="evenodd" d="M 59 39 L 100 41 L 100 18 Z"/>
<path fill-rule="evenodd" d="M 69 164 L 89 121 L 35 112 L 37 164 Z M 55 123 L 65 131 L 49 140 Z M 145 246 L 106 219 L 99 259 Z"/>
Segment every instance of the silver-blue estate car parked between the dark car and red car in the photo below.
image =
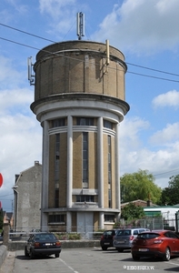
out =
<path fill-rule="evenodd" d="M 123 252 L 124 249 L 130 249 L 134 238 L 145 230 L 149 229 L 142 227 L 118 229 L 114 236 L 114 248 L 116 248 L 118 252 Z"/>

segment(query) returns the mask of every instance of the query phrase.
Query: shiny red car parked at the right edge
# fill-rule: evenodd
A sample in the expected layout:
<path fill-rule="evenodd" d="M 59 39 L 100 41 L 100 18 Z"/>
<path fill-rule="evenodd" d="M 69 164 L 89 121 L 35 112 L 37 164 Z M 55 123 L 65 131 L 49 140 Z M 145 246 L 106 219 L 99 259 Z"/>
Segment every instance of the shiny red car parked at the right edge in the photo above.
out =
<path fill-rule="evenodd" d="M 141 257 L 163 258 L 179 256 L 179 237 L 169 230 L 153 230 L 140 233 L 131 248 L 134 260 Z"/>

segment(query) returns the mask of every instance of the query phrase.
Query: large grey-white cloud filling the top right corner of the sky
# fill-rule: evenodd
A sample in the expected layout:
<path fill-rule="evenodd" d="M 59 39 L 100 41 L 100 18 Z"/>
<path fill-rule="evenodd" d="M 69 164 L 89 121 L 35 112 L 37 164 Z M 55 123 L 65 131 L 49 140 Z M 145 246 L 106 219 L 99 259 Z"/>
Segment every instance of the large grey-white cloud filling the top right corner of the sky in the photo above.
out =
<path fill-rule="evenodd" d="M 178 0 L 126 0 L 106 15 L 94 40 L 137 54 L 174 49 L 179 44 Z"/>

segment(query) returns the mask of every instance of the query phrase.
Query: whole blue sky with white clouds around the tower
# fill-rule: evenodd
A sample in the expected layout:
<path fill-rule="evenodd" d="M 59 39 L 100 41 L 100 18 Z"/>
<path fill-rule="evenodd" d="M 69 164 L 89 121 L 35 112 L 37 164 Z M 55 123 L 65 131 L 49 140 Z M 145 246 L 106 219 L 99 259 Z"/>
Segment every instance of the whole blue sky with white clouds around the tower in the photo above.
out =
<path fill-rule="evenodd" d="M 54 42 L 77 40 L 76 13 L 85 14 L 83 40 L 124 53 L 125 100 L 120 124 L 120 174 L 139 169 L 168 187 L 179 174 L 178 0 L 0 0 L 0 188 L 3 209 L 14 206 L 15 174 L 42 163 L 42 127 L 30 110 L 34 86 L 27 57 Z"/>

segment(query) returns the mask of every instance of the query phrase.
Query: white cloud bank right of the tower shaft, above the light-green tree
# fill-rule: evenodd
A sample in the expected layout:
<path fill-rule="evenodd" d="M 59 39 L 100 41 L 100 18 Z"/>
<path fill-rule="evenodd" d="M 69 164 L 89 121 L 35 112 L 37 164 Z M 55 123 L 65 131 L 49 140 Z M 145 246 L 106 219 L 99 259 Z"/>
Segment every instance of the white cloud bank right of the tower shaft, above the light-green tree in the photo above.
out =
<path fill-rule="evenodd" d="M 138 116 L 125 118 L 121 123 L 121 176 L 125 173 L 134 173 L 138 169 L 144 169 L 154 175 L 155 183 L 159 187 L 167 187 L 169 177 L 179 171 L 179 123 L 167 125 L 151 137 L 147 134 L 147 139 L 144 142 L 144 137 L 141 137 L 141 134 L 146 134 L 148 128 L 150 128 L 149 122 Z M 156 149 L 149 147 L 148 141 L 151 145 L 156 146 Z M 176 172 L 171 170 L 176 170 Z"/>

